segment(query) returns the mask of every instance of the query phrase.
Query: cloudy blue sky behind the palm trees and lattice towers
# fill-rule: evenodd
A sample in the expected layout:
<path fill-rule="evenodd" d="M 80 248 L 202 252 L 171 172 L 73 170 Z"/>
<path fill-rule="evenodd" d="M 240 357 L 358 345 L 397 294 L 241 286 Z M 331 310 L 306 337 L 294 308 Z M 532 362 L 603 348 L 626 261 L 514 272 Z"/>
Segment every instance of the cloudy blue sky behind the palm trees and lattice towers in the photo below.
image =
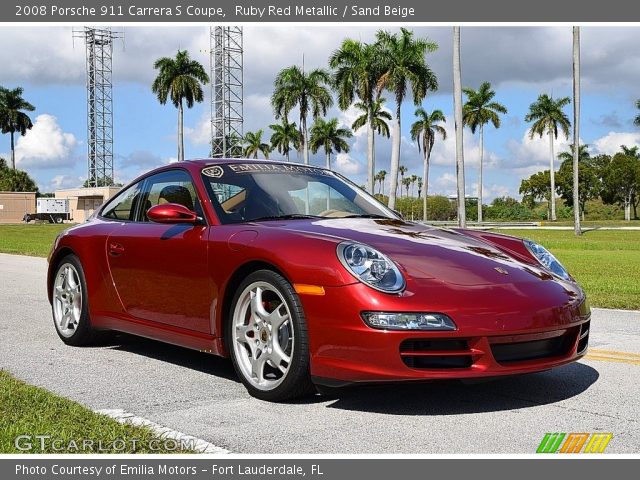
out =
<path fill-rule="evenodd" d="M 115 27 L 114 27 L 115 28 Z M 383 28 L 383 26 L 379 27 Z M 374 40 L 379 28 L 354 26 L 245 26 L 244 27 L 244 131 L 264 129 L 275 123 L 269 97 L 277 72 L 293 64 L 305 68 L 327 67 L 331 52 L 345 38 Z M 455 140 L 452 98 L 451 27 L 410 27 L 416 36 L 428 38 L 439 48 L 427 55 L 438 77 L 439 88 L 429 92 L 422 106 L 440 109 L 446 116 L 446 141 L 437 139 L 432 153 L 430 193 L 455 193 Z M 386 28 L 395 31 L 396 28 Z M 81 40 L 72 40 L 72 27 L 0 27 L 0 85 L 21 86 L 24 98 L 36 110 L 34 127 L 17 140 L 19 168 L 35 178 L 43 192 L 80 186 L 87 176 L 87 125 L 85 54 Z M 187 49 L 192 58 L 209 69 L 209 29 L 193 27 L 126 27 L 124 41 L 113 54 L 115 178 L 128 182 L 177 156 L 177 110 L 160 105 L 151 92 L 154 61 Z M 571 96 L 571 27 L 463 27 L 461 33 L 462 83 L 477 89 L 484 81 L 505 105 L 499 129 L 485 128 L 484 198 L 518 198 L 522 178 L 549 168 L 547 138 L 529 139 L 524 121 L 529 105 L 541 93 Z M 581 141 L 592 154 L 615 153 L 620 145 L 640 146 L 640 129 L 633 125 L 640 113 L 640 28 L 582 28 Z M 386 108 L 395 112 L 393 96 L 385 92 Z M 210 140 L 210 91 L 205 101 L 185 111 L 185 156 L 206 157 Z M 416 106 L 408 99 L 402 106 L 401 164 L 410 174 L 422 174 L 422 156 L 411 141 L 409 129 Z M 566 108 L 571 117 L 571 107 Z M 297 120 L 297 112 L 290 118 Z M 350 126 L 357 113 L 333 107 L 327 117 Z M 358 184 L 366 181 L 366 129 L 350 140 L 350 151 L 334 156 L 335 169 Z M 559 138 L 556 152 L 567 150 Z M 479 164 L 477 135 L 464 132 L 467 194 L 477 192 Z M 9 159 L 8 135 L 0 137 L 0 156 Z M 391 140 L 376 137 L 376 170 L 390 170 Z M 277 152 L 273 159 L 282 158 Z M 292 155 L 293 161 L 302 161 Z M 324 154 L 311 162 L 324 165 Z M 556 168 L 559 165 L 556 165 Z M 388 176 L 387 176 L 388 189 Z"/>

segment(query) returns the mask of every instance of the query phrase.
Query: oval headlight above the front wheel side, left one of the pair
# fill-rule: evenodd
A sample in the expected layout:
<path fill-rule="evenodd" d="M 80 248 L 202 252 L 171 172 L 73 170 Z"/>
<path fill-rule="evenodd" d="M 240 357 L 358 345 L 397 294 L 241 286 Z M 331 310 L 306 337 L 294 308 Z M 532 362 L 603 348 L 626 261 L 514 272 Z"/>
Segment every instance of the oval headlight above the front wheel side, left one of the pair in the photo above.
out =
<path fill-rule="evenodd" d="M 404 277 L 384 254 L 361 243 L 343 242 L 338 245 L 338 259 L 358 280 L 386 293 L 404 288 Z"/>

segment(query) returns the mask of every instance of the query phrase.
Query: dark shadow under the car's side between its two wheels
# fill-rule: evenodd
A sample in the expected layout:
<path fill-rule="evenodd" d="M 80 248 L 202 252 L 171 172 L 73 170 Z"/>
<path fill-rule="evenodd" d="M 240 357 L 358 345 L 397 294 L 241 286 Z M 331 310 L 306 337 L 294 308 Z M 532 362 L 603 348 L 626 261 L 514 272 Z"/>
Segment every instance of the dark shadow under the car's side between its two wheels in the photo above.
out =
<path fill-rule="evenodd" d="M 96 346 L 142 355 L 226 380 L 240 382 L 229 359 L 209 353 L 126 333 L 110 334 Z"/>

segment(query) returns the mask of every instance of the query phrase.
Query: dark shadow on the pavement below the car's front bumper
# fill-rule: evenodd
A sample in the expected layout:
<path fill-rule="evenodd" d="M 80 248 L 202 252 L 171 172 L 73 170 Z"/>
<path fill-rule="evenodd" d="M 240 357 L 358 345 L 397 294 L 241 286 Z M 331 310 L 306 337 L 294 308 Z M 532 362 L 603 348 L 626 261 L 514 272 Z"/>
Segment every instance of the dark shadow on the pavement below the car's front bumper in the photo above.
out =
<path fill-rule="evenodd" d="M 598 371 L 572 363 L 546 372 L 482 383 L 444 380 L 335 389 L 327 408 L 390 415 L 458 415 L 547 405 L 585 392 Z"/>

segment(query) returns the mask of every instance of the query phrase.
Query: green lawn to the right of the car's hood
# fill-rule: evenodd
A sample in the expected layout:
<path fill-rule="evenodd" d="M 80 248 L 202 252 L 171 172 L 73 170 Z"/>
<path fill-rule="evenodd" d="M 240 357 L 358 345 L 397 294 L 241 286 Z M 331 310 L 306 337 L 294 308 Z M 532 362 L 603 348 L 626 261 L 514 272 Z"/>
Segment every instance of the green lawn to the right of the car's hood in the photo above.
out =
<path fill-rule="evenodd" d="M 499 230 L 547 247 L 587 292 L 593 307 L 640 309 L 640 231 Z"/>

